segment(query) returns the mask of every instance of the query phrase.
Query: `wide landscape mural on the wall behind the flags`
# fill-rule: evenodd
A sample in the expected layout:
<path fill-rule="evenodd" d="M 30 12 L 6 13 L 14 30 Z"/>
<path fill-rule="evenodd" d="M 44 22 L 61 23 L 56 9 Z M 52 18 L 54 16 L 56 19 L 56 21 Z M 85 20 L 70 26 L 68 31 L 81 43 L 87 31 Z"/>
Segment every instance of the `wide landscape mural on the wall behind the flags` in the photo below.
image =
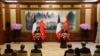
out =
<path fill-rule="evenodd" d="M 22 10 L 21 15 L 24 14 L 24 21 L 26 30 L 32 30 L 34 16 L 39 26 L 41 17 L 44 18 L 46 30 L 56 30 L 58 15 L 60 15 L 61 23 L 68 19 L 70 31 L 75 31 L 80 22 L 80 10 Z M 67 18 L 66 18 L 67 16 Z M 78 20 L 78 21 L 77 21 Z"/>

